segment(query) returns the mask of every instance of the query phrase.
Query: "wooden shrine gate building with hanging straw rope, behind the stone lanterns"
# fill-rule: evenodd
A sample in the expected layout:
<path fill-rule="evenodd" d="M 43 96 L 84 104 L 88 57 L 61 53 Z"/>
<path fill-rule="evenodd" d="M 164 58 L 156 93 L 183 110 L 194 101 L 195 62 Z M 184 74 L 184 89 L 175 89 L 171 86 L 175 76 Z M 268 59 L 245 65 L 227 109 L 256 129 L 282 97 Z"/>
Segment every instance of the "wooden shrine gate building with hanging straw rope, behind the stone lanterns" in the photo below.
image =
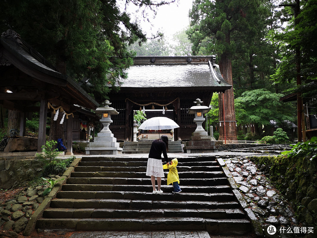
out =
<path fill-rule="evenodd" d="M 136 56 L 134 65 L 121 79 L 118 93 L 109 94 L 112 107 L 119 111 L 112 116 L 110 129 L 118 141 L 133 141 L 133 111 L 143 109 L 172 110 L 170 119 L 180 128 L 174 140 L 189 140 L 196 129 L 188 108 L 200 98 L 209 106 L 214 92 L 232 86 L 226 83 L 215 63 L 216 56 Z"/>

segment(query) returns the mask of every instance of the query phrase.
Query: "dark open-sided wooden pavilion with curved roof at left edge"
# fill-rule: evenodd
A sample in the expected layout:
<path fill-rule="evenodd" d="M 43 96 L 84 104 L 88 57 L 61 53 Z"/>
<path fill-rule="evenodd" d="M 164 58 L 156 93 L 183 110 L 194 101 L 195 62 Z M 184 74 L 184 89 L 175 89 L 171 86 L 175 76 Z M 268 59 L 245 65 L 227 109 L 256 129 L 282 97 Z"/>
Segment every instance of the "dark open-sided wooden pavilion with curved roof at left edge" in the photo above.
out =
<path fill-rule="evenodd" d="M 95 109 L 99 104 L 69 76 L 56 71 L 44 57 L 21 39 L 14 30 L 3 32 L 0 38 L 0 104 L 21 112 L 20 136 L 25 135 L 25 116 L 40 112 L 37 151 L 45 144 L 48 105 L 61 106 L 67 113 L 78 107 Z M 40 102 L 40 106 L 36 106 Z M 67 140 L 72 140 L 73 117 L 68 116 Z M 72 143 L 69 143 L 72 151 Z"/>

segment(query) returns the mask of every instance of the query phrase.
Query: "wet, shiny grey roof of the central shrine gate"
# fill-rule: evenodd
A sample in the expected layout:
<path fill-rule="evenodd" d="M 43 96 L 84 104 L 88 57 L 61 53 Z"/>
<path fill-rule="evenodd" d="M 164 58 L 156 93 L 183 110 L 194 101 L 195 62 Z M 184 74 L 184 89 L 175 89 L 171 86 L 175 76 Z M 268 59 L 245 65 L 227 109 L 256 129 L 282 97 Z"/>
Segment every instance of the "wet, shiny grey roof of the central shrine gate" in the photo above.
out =
<path fill-rule="evenodd" d="M 120 90 L 201 90 L 223 92 L 232 86 L 221 76 L 215 56 L 136 56 L 120 79 Z"/>

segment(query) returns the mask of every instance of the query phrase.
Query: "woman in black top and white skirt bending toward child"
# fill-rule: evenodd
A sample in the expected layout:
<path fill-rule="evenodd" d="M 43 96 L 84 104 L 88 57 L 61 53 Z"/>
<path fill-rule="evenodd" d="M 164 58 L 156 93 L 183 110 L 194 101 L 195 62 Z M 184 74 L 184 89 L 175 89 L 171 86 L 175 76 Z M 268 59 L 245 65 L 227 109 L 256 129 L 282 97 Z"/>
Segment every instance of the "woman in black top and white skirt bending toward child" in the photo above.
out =
<path fill-rule="evenodd" d="M 154 140 L 151 145 L 149 158 L 147 160 L 146 175 L 151 176 L 151 182 L 153 187 L 153 194 L 161 194 L 161 177 L 164 177 L 162 153 L 166 160 L 166 163 L 170 165 L 167 157 L 168 151 L 168 137 L 166 135 L 161 136 L 160 139 Z M 158 182 L 158 190 L 155 188 L 155 177 Z"/>

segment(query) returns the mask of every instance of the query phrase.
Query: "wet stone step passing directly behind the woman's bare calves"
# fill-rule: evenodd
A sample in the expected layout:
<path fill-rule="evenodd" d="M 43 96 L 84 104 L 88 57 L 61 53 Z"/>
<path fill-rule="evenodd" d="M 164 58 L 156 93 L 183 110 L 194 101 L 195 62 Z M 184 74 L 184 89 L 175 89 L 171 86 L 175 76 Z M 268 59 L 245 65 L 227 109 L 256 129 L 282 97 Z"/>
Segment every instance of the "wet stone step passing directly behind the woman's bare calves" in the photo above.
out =
<path fill-rule="evenodd" d="M 127 185 L 151 185 L 151 178 L 73 178 L 67 179 L 67 184 L 127 184 Z M 182 178 L 182 184 L 188 186 L 199 184 L 200 186 L 227 185 L 227 178 Z"/>

